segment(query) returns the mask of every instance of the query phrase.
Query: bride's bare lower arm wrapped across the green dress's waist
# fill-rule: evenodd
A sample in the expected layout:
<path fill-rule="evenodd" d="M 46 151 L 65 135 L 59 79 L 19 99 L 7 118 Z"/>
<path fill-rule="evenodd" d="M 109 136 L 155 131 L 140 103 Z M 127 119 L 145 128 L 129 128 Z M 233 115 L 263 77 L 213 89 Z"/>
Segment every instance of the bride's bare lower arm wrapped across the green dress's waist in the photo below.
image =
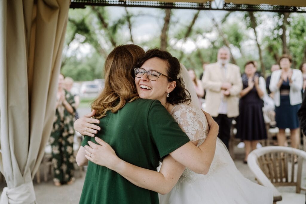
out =
<path fill-rule="evenodd" d="M 164 158 L 159 172 L 144 169 L 118 158 L 112 147 L 102 139 L 95 137 L 95 141 L 100 145 L 89 141 L 90 146 L 85 146 L 85 157 L 88 160 L 112 169 L 136 186 L 160 194 L 170 192 L 185 169 L 185 166 L 175 161 L 170 155 Z M 90 154 L 91 157 L 89 157 Z"/>

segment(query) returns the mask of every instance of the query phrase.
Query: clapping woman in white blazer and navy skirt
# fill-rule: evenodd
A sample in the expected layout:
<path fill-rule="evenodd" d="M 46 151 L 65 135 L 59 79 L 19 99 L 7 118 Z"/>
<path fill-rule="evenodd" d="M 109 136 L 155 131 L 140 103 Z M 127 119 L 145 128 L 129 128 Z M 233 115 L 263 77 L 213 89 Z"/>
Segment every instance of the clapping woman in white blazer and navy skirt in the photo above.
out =
<path fill-rule="evenodd" d="M 285 128 L 290 128 L 291 146 L 298 148 L 300 130 L 297 111 L 302 103 L 303 76 L 300 70 L 291 69 L 291 62 L 289 55 L 282 55 L 279 60 L 281 69 L 272 72 L 269 88 L 274 92 L 278 145 L 285 145 Z"/>

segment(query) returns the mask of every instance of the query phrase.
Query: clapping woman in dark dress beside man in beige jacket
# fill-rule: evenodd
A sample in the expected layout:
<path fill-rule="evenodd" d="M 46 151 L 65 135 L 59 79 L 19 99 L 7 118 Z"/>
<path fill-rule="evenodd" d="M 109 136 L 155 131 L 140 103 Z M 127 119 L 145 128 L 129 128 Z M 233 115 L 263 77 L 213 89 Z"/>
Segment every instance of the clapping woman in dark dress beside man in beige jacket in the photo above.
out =
<path fill-rule="evenodd" d="M 237 117 L 237 138 L 244 141 L 245 157 L 256 149 L 259 140 L 267 139 L 265 122 L 263 120 L 263 96 L 266 94 L 266 83 L 262 76 L 256 72 L 253 61 L 244 66 L 242 75 L 243 90 L 240 92 L 239 113 Z"/>

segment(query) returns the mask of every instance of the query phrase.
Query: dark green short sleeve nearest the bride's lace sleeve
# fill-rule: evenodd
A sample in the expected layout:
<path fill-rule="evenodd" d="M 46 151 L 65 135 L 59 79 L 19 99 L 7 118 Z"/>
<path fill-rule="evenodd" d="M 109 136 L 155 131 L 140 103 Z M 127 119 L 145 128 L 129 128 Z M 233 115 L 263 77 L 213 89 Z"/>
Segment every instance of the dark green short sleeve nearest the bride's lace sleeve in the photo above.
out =
<path fill-rule="evenodd" d="M 159 151 L 160 158 L 190 141 L 166 108 L 157 100 L 150 106 L 147 122 L 151 139 Z"/>

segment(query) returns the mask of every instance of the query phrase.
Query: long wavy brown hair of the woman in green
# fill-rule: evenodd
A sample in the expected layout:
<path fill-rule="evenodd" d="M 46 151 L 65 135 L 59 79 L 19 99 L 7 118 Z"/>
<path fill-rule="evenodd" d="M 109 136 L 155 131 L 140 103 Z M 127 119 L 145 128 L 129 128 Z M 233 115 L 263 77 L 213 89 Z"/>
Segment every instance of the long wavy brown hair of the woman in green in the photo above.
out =
<path fill-rule="evenodd" d="M 96 110 L 97 119 L 106 116 L 109 110 L 116 113 L 127 102 L 138 98 L 133 68 L 144 53 L 137 45 L 119 45 L 107 56 L 104 89 L 91 103 L 91 109 Z"/>

